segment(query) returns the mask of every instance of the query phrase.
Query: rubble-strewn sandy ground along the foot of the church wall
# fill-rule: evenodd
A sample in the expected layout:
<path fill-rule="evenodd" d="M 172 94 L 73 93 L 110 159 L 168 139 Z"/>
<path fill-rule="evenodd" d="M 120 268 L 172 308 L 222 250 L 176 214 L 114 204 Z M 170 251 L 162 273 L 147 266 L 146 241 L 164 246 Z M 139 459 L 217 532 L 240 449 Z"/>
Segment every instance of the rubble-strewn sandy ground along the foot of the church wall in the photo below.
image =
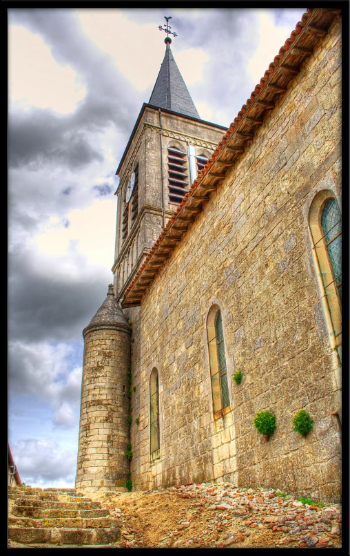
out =
<path fill-rule="evenodd" d="M 121 517 L 120 547 L 341 546 L 339 504 L 309 506 L 274 489 L 192 483 L 94 499 Z"/>

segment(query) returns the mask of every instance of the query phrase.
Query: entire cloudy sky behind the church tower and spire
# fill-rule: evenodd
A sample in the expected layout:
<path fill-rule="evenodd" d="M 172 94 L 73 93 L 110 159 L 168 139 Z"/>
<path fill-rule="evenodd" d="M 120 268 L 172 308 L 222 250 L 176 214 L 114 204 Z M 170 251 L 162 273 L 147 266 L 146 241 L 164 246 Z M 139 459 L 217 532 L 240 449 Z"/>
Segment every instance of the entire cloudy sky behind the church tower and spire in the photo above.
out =
<path fill-rule="evenodd" d="M 74 486 L 81 331 L 114 262 L 115 171 L 172 51 L 229 126 L 305 9 L 10 9 L 9 441 L 22 481 Z M 163 35 L 163 37 L 162 37 Z"/>

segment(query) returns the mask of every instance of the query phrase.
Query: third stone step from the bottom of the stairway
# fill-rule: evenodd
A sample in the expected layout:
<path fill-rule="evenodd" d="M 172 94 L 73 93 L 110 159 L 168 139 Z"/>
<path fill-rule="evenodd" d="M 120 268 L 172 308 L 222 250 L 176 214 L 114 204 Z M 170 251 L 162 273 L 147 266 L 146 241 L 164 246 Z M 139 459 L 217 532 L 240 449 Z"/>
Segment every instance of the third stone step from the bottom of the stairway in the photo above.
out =
<path fill-rule="evenodd" d="M 58 502 L 56 502 L 56 504 L 58 504 Z M 107 510 L 106 508 L 52 508 L 50 505 L 46 506 L 45 508 L 34 508 L 32 506 L 13 506 L 12 515 L 17 517 L 32 517 L 34 519 L 57 519 L 59 517 L 109 517 L 110 510 Z"/>

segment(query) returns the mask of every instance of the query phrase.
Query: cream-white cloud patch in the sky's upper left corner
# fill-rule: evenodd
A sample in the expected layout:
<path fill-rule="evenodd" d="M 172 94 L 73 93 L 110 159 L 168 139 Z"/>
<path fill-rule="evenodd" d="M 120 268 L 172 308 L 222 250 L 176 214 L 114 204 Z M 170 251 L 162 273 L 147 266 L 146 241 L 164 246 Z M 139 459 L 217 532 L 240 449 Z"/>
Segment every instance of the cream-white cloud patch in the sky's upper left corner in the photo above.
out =
<path fill-rule="evenodd" d="M 23 27 L 10 26 L 8 49 L 12 102 L 52 108 L 62 114 L 75 110 L 85 96 L 85 87 L 72 68 L 57 64 L 41 37 Z"/>

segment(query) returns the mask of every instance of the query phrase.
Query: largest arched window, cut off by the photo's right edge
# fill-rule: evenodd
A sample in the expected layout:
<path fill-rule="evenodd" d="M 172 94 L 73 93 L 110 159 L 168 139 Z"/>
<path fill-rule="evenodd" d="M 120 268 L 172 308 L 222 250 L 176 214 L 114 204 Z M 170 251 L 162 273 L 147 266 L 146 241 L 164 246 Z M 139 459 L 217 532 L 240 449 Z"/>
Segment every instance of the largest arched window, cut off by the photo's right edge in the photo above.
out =
<path fill-rule="evenodd" d="M 342 345 L 342 215 L 329 190 L 320 191 L 309 211 L 309 225 L 331 317 L 335 347 Z"/>

